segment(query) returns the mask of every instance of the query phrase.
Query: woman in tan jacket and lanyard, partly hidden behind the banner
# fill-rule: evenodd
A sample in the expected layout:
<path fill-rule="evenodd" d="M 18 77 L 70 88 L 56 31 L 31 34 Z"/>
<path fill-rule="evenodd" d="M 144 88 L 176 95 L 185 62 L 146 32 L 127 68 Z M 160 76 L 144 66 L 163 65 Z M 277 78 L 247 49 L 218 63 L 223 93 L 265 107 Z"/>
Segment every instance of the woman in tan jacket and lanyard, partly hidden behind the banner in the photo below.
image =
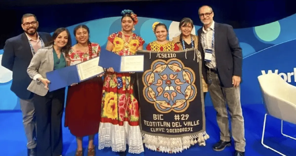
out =
<path fill-rule="evenodd" d="M 198 36 L 191 34 L 191 31 L 193 29 L 193 21 L 190 18 L 183 18 L 181 19 L 179 23 L 179 30 L 181 31 L 181 34 L 177 37 L 173 38 L 173 42 L 175 42 L 179 50 L 189 49 L 189 48 L 197 48 L 198 46 Z M 204 99 L 205 95 L 207 93 L 207 83 L 205 83 L 205 79 L 202 76 L 202 89 L 204 92 Z M 205 142 L 199 143 L 200 146 L 205 146 Z"/>

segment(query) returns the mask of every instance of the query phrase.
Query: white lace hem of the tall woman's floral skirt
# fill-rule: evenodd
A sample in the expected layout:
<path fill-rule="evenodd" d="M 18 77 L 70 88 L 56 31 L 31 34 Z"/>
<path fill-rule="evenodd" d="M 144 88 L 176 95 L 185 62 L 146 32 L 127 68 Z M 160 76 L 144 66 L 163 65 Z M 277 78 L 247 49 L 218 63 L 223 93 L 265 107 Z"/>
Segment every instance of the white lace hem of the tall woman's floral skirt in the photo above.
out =
<path fill-rule="evenodd" d="M 126 151 L 126 144 L 129 153 L 144 152 L 140 126 L 130 126 L 127 121 L 123 126 L 100 123 L 99 150 L 111 147 L 113 152 L 122 152 Z"/>

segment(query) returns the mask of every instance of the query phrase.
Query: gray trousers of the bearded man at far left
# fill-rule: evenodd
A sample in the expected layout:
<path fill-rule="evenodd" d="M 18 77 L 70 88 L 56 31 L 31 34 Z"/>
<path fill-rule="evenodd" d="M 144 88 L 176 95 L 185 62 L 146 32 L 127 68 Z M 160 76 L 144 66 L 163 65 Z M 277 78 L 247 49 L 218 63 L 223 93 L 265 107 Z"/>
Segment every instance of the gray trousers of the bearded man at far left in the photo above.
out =
<path fill-rule="evenodd" d="M 27 148 L 36 147 L 36 121 L 33 98 L 29 100 L 20 99 L 20 109 L 22 110 L 22 123 L 27 137 Z"/>

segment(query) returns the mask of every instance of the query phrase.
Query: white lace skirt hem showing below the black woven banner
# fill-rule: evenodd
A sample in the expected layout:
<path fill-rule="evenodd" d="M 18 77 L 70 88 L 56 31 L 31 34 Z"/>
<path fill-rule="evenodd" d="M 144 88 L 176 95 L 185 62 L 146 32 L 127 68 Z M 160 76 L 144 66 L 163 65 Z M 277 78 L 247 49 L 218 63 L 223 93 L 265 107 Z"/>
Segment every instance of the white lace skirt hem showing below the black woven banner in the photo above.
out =
<path fill-rule="evenodd" d="M 205 140 L 210 138 L 210 136 L 205 131 L 199 134 L 178 138 L 160 137 L 149 134 L 142 135 L 144 138 L 143 142 L 146 148 L 153 151 L 157 151 L 158 148 L 160 152 L 165 153 L 182 152 L 188 149 L 191 145 L 205 142 Z"/>

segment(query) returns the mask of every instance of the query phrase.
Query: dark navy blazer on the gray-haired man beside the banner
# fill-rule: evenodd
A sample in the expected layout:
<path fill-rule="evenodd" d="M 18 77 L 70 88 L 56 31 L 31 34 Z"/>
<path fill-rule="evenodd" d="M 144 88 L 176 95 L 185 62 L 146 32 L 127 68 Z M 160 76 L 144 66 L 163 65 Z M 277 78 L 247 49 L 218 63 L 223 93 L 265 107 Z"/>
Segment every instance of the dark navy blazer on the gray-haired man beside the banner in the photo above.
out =
<path fill-rule="evenodd" d="M 233 87 L 232 76 L 242 77 L 242 48 L 239 46 L 239 40 L 232 26 L 215 22 L 214 31 L 216 66 L 221 81 L 221 87 L 230 88 Z M 202 60 L 204 61 L 205 53 L 201 45 L 200 37 L 202 27 L 197 33 L 200 41 L 198 43 L 198 49 L 201 51 Z M 202 74 L 206 79 L 205 61 L 202 69 Z"/>

